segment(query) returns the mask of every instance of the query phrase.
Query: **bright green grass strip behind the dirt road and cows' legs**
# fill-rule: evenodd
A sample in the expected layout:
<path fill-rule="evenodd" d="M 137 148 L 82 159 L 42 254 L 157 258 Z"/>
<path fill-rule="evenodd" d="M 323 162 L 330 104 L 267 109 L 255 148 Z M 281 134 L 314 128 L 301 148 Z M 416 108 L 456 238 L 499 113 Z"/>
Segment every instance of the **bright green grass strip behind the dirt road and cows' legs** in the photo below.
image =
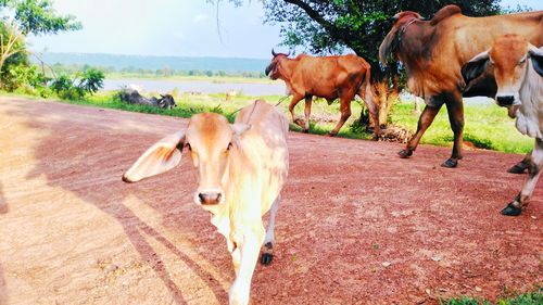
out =
<path fill-rule="evenodd" d="M 190 117 L 191 115 L 200 112 L 216 112 L 224 114 L 231 122 L 236 116 L 236 111 L 250 104 L 257 98 L 265 99 L 269 103 L 276 104 L 282 97 L 237 96 L 232 100 L 226 101 L 224 93 L 175 94 L 178 107 L 174 110 L 161 110 L 152 106 L 126 104 L 114 100 L 111 93 L 99 93 L 85 101 L 72 103 L 180 117 Z M 289 102 L 290 98 L 285 99 L 279 105 L 285 113 L 288 113 Z M 339 137 L 353 139 L 371 138 L 370 134 L 359 130 L 361 128 L 354 127 L 354 122 L 359 117 L 361 111 L 361 102 L 353 102 L 353 115 L 340 130 L 340 134 L 338 135 Z M 295 113 L 299 117 L 303 116 L 303 101 L 295 107 Z M 325 100 L 315 100 L 312 107 L 313 120 L 311 123 L 311 132 L 317 135 L 328 134 L 336 126 L 339 115 L 340 111 L 338 101 L 328 105 Z M 418 115 L 413 113 L 412 103 L 405 102 L 394 105 L 391 114 L 391 123 L 393 125 L 415 131 L 417 128 L 417 122 Z M 520 135 L 515 128 L 515 120 L 507 116 L 506 110 L 498 107 L 493 103 L 482 105 L 465 104 L 465 122 L 464 140 L 473 143 L 478 148 L 520 154 L 527 153 L 533 148 L 533 139 Z M 301 128 L 291 124 L 291 130 L 300 131 Z M 426 131 L 421 143 L 451 147 L 452 141 L 453 132 L 449 124 L 446 107 L 443 107 L 440 114 L 435 117 L 433 124 Z"/>

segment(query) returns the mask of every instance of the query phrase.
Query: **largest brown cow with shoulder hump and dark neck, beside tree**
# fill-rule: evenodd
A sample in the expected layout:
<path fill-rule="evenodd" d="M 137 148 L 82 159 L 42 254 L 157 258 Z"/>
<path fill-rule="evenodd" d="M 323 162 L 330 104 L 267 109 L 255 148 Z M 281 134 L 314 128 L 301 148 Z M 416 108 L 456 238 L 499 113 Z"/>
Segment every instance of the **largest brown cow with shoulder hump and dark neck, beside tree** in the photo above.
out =
<path fill-rule="evenodd" d="M 379 58 L 382 63 L 389 54 L 399 59 L 405 65 L 409 90 L 427 104 L 417 132 L 399 154 L 401 157 L 413 154 L 441 106 L 446 104 L 454 145 L 442 166 L 456 167 L 463 156 L 463 96 L 493 98 L 496 93 L 490 73 L 466 86 L 462 65 L 507 33 L 518 33 L 534 46 L 543 45 L 543 12 L 468 17 L 458 7 L 447 5 L 431 21 L 422 21 L 418 13 L 409 11 L 397 13 L 393 20 L 392 29 L 379 47 Z"/>

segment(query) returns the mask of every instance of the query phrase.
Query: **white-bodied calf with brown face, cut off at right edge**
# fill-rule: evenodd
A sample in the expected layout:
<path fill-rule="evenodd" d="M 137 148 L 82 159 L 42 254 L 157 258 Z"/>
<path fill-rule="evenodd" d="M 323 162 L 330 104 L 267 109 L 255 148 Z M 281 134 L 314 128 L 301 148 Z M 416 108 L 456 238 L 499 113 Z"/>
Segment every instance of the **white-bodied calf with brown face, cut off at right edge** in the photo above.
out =
<path fill-rule="evenodd" d="M 515 200 L 502 209 L 504 215 L 517 216 L 528 204 L 543 169 L 543 47 L 538 49 L 525 37 L 508 34 L 471 59 L 462 74 L 469 84 L 489 68 L 493 69 L 497 84 L 496 103 L 509 109 L 509 115 L 517 119 L 518 131 L 535 138 L 527 162 L 528 180 Z"/>

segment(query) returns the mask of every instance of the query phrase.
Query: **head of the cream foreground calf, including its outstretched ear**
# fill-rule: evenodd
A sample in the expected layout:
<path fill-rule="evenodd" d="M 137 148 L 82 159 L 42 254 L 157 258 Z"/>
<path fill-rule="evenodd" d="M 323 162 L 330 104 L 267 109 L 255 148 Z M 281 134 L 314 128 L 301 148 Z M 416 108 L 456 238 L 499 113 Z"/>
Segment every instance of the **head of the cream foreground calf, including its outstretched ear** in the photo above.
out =
<path fill-rule="evenodd" d="M 194 202 L 206 206 L 220 204 L 225 201 L 232 151 L 239 145 L 239 136 L 249 128 L 244 124 L 230 125 L 215 113 L 197 114 L 190 118 L 187 130 L 167 136 L 147 150 L 123 181 L 136 182 L 167 171 L 179 164 L 181 152 L 186 152 L 198 173 Z"/>

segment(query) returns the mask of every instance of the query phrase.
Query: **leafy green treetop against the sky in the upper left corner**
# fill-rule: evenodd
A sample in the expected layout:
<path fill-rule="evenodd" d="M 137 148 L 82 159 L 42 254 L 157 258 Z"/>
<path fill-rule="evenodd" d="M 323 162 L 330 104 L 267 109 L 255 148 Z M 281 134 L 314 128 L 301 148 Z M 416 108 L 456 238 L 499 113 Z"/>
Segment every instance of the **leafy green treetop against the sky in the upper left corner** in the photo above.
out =
<path fill-rule="evenodd" d="M 10 56 L 26 50 L 26 35 L 39 36 L 81 28 L 74 16 L 58 15 L 49 0 L 3 0 L 0 2 L 0 73 Z"/>

